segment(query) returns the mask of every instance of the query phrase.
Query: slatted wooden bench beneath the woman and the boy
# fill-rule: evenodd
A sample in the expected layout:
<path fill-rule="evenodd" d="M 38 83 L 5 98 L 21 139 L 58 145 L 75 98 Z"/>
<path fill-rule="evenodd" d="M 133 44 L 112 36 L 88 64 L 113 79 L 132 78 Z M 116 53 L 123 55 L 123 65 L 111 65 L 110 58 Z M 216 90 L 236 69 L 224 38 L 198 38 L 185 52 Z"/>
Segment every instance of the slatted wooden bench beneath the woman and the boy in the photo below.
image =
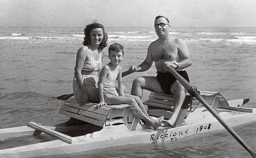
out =
<path fill-rule="evenodd" d="M 140 118 L 132 112 L 134 109 L 130 108 L 131 105 L 106 105 L 99 109 L 96 105 L 87 103 L 80 106 L 76 99 L 70 98 L 64 102 L 59 113 L 100 127 L 124 124 L 128 130 L 135 130 L 140 123 Z"/>

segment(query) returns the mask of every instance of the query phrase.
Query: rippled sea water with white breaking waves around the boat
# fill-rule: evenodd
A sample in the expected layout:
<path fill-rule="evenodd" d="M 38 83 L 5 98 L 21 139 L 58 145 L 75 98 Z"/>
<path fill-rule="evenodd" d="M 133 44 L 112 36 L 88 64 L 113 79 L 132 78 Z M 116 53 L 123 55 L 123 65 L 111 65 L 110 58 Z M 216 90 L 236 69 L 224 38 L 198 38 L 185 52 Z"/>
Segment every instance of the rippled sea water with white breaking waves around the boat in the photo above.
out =
<path fill-rule="evenodd" d="M 55 125 L 68 120 L 58 114 L 63 101 L 53 97 L 72 93 L 76 51 L 82 46 L 83 27 L 0 27 L 0 128 L 24 126 L 29 121 Z M 157 39 L 154 27 L 106 27 L 108 46 L 125 47 L 123 71 L 145 59 Z M 186 68 L 198 90 L 217 91 L 227 99 L 250 98 L 256 106 L 256 28 L 172 27 L 170 35 L 189 48 L 193 65 Z M 103 64 L 109 62 L 108 46 Z M 156 76 L 152 68 L 123 78 L 128 92 L 137 76 Z M 144 91 L 143 101 L 150 92 Z M 256 151 L 256 121 L 235 127 Z M 22 145 L 22 144 L 21 144 Z M 226 131 L 167 142 L 138 144 L 57 155 L 73 158 L 250 158 Z"/>

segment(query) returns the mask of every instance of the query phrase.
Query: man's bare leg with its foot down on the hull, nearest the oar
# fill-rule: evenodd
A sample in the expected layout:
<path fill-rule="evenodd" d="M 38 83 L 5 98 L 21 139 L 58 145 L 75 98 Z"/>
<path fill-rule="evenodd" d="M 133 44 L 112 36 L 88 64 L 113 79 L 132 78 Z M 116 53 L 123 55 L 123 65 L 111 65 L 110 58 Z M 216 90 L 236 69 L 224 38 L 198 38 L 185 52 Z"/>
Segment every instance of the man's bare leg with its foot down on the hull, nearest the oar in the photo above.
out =
<path fill-rule="evenodd" d="M 177 119 L 178 113 L 180 112 L 181 106 L 186 97 L 185 88 L 177 80 L 171 86 L 171 92 L 174 94 L 174 109 L 172 117 L 167 121 L 170 125 L 173 125 Z"/>

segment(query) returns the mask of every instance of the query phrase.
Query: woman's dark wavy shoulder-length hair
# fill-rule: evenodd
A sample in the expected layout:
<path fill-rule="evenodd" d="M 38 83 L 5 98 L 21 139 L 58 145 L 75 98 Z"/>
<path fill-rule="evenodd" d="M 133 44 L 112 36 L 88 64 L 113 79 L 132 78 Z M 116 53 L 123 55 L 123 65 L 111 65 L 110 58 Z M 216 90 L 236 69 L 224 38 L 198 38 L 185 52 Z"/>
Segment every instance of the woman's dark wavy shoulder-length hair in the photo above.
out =
<path fill-rule="evenodd" d="M 90 32 L 94 28 L 102 28 L 104 37 L 102 39 L 102 42 L 99 44 L 99 49 L 102 50 L 103 48 L 105 48 L 107 46 L 108 34 L 105 33 L 104 26 L 101 25 L 100 23 L 92 23 L 92 24 L 86 25 L 86 27 L 84 28 L 84 35 L 85 35 L 85 37 L 84 37 L 83 45 L 90 44 Z"/>

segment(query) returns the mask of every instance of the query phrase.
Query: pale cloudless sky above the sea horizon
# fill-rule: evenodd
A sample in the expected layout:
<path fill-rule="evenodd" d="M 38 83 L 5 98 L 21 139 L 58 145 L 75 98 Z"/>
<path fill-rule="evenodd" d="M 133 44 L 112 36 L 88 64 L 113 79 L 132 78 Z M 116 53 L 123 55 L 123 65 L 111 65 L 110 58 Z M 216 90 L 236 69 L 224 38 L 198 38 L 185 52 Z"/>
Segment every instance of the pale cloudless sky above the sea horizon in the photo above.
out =
<path fill-rule="evenodd" d="M 0 0 L 0 26 L 256 27 L 256 0 Z"/>

